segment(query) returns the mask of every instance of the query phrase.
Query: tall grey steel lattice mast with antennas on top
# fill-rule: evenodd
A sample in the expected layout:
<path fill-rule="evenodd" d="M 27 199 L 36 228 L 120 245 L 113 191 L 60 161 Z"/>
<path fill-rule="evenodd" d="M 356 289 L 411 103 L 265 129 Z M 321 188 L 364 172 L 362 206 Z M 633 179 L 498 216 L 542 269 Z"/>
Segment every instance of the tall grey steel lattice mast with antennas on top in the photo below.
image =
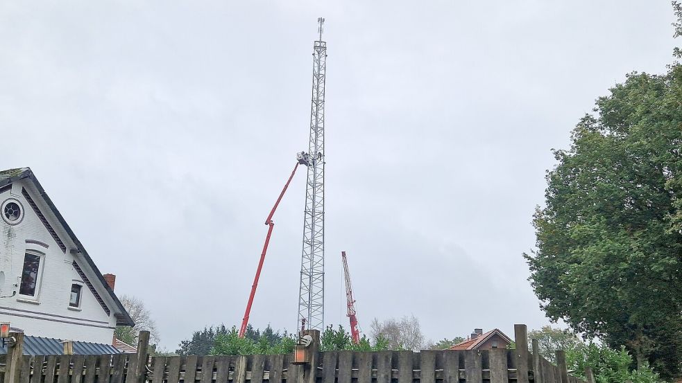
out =
<path fill-rule="evenodd" d="M 305 188 L 303 250 L 300 266 L 298 323 L 323 330 L 325 321 L 325 66 L 327 43 L 322 41 L 325 19 L 317 19 L 320 39 L 313 46 L 313 86 L 308 152 L 298 161 L 308 167 Z"/>

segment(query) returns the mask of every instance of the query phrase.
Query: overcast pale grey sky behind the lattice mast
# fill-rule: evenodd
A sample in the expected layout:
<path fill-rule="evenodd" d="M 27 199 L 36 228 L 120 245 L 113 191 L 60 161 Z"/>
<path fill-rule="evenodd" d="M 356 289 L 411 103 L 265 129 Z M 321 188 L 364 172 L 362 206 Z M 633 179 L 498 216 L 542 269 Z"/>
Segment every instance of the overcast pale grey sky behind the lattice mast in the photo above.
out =
<path fill-rule="evenodd" d="M 3 1 L 0 168 L 30 166 L 162 345 L 239 324 L 307 147 L 327 19 L 326 322 L 548 323 L 522 252 L 551 148 L 629 71 L 672 61 L 669 1 Z M 251 323 L 293 330 L 305 172 Z"/>

